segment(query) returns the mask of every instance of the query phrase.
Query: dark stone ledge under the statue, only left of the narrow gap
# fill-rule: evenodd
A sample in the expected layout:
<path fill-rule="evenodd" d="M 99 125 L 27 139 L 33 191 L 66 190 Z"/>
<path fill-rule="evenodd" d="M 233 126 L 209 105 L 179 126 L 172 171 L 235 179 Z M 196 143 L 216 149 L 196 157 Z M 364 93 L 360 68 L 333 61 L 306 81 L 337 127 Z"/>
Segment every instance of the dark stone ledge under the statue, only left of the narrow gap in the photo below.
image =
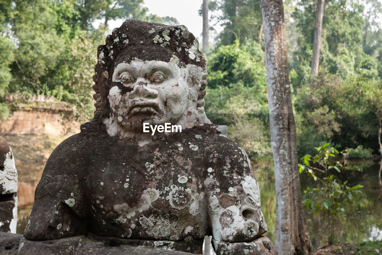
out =
<path fill-rule="evenodd" d="M 0 233 L 0 255 L 190 255 L 202 253 L 203 240 L 155 241 L 94 234 L 31 241 L 21 234 Z M 181 252 L 179 250 L 188 250 Z"/>

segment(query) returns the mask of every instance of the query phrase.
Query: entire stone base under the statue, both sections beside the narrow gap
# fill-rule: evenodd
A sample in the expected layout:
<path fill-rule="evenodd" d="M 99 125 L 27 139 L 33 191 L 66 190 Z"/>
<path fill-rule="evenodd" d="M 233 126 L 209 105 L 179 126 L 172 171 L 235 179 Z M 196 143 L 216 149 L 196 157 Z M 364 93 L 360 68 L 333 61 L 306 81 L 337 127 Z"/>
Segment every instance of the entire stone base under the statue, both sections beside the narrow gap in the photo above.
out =
<path fill-rule="evenodd" d="M 101 237 L 94 234 L 66 237 L 48 241 L 31 241 L 21 234 L 0 232 L 0 255 L 190 255 L 184 247 L 202 247 L 202 241 L 154 241 Z M 227 243 L 212 239 L 217 255 L 275 255 L 268 237 L 252 242 Z M 176 249 L 176 250 L 172 250 Z M 199 248 L 198 248 L 199 249 Z M 194 250 L 201 254 L 202 251 Z"/>

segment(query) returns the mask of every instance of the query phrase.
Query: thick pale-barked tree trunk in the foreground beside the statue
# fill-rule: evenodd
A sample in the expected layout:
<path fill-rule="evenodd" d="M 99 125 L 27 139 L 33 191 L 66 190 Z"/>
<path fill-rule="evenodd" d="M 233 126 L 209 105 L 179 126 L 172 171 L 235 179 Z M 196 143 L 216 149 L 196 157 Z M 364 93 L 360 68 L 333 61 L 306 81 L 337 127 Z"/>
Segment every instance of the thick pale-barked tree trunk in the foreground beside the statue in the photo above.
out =
<path fill-rule="evenodd" d="M 289 84 L 282 0 L 261 0 L 271 145 L 276 181 L 275 252 L 311 254 L 312 245 L 301 204 L 296 127 Z"/>

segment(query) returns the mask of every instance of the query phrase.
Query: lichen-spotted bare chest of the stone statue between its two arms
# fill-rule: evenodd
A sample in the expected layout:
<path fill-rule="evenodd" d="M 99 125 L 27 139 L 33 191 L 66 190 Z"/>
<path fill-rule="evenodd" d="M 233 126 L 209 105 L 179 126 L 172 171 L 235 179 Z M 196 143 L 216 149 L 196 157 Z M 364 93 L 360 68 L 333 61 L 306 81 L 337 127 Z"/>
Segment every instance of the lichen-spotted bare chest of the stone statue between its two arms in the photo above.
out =
<path fill-rule="evenodd" d="M 202 160 L 191 161 L 178 151 L 104 155 L 102 163 L 93 164 L 84 183 L 92 232 L 132 239 L 202 238 L 208 225 L 207 171 Z"/>

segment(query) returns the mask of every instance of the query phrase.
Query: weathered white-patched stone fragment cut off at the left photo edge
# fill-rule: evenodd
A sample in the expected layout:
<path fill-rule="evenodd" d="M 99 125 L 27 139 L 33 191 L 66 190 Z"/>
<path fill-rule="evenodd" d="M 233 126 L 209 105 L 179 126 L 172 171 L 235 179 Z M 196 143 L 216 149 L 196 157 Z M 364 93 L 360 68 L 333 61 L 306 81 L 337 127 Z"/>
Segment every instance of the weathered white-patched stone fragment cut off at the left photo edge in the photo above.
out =
<path fill-rule="evenodd" d="M 16 233 L 17 171 L 9 144 L 0 136 L 0 231 Z"/>

